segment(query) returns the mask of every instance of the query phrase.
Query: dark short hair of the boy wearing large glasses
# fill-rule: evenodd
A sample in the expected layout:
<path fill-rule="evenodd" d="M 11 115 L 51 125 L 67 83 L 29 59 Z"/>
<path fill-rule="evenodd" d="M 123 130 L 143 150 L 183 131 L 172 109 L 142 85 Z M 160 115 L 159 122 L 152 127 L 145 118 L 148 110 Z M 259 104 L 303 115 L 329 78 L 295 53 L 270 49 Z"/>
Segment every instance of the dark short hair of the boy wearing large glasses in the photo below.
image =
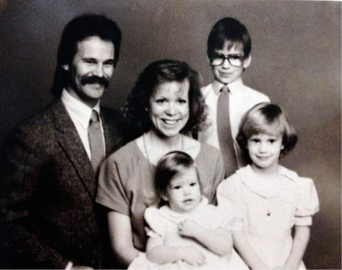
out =
<path fill-rule="evenodd" d="M 226 17 L 215 23 L 209 33 L 207 43 L 208 57 L 210 58 L 215 53 L 215 50 L 222 49 L 226 40 L 231 42 L 231 46 L 241 43 L 244 46 L 244 57 L 250 55 L 252 41 L 246 26 L 235 18 Z"/>

